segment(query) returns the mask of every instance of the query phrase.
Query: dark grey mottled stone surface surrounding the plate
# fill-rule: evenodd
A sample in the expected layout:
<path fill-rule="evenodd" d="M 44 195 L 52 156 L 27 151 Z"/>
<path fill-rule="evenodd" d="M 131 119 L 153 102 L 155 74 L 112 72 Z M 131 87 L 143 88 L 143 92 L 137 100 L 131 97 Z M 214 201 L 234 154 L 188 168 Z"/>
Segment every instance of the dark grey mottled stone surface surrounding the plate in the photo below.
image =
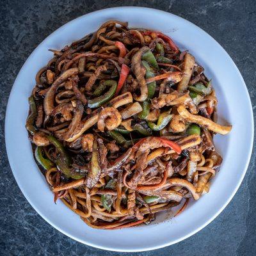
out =
<path fill-rule="evenodd" d="M 104 252 L 77 243 L 46 223 L 20 192 L 6 156 L 4 115 L 12 84 L 22 64 L 36 45 L 69 20 L 102 8 L 131 5 L 175 13 L 213 36 L 241 71 L 255 109 L 256 4 L 253 0 L 2 0 L 0 255 L 256 255 L 255 152 L 239 191 L 216 220 L 185 241 L 152 252 Z"/>

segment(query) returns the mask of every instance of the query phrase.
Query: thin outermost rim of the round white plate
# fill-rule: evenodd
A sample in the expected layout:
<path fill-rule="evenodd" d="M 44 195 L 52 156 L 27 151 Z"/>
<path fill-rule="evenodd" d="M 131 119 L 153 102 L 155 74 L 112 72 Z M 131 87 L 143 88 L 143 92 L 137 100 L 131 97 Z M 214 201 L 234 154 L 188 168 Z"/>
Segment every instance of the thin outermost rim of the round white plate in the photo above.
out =
<path fill-rule="evenodd" d="M 51 220 L 49 220 L 34 204 L 33 202 L 31 202 L 30 198 L 29 198 L 29 195 L 24 191 L 24 188 L 22 187 L 22 185 L 20 184 L 20 181 L 19 179 L 17 179 L 16 175 L 15 175 L 15 172 L 13 172 L 13 170 L 15 169 L 14 168 L 14 164 L 12 163 L 12 153 L 8 150 L 8 140 L 6 138 L 8 138 L 8 129 L 7 129 L 7 126 L 8 126 L 8 116 L 10 116 L 10 99 L 12 99 L 12 95 L 13 95 L 13 90 L 14 88 L 17 86 L 17 81 L 19 81 L 19 76 L 20 76 L 20 73 L 22 72 L 23 68 L 25 67 L 26 63 L 29 62 L 29 60 L 33 57 L 33 55 L 35 54 L 36 52 L 36 49 L 38 49 L 38 47 L 40 47 L 42 44 L 44 44 L 44 42 L 49 38 L 51 37 L 52 35 L 54 35 L 54 33 L 57 33 L 58 31 L 60 31 L 60 29 L 63 29 L 65 26 L 67 26 L 68 24 L 72 24 L 73 22 L 76 22 L 76 20 L 79 20 L 79 19 L 83 19 L 83 17 L 85 16 L 88 16 L 88 15 L 93 15 L 93 14 L 97 14 L 97 13 L 100 13 L 100 12 L 108 12 L 111 10 L 116 10 L 116 9 L 133 9 L 133 10 L 141 10 L 143 12 L 143 10 L 151 10 L 151 11 L 154 11 L 154 12 L 159 12 L 159 13 L 164 13 L 165 15 L 170 15 L 170 16 L 174 16 L 176 18 L 179 18 L 179 19 L 182 19 L 184 20 L 185 22 L 188 22 L 189 26 L 193 26 L 194 28 L 198 29 L 201 33 L 204 33 L 205 35 L 207 36 L 210 36 L 211 40 L 213 40 L 215 42 L 216 45 L 218 45 L 218 47 L 220 47 L 220 49 L 223 51 L 224 54 L 226 54 L 228 60 L 230 61 L 230 63 L 232 64 L 232 66 L 236 69 L 236 73 L 239 75 L 240 79 L 241 79 L 241 83 L 243 84 L 243 87 L 244 87 L 244 91 L 245 91 L 245 94 L 246 94 L 246 98 L 250 104 L 250 122 L 251 122 L 251 129 L 252 129 L 252 134 L 250 134 L 250 145 L 249 145 L 249 152 L 250 154 L 248 154 L 247 156 L 247 159 L 246 159 L 246 163 L 244 165 L 244 169 L 243 169 L 243 172 L 241 172 L 241 178 L 239 179 L 239 182 L 237 182 L 237 185 L 236 185 L 236 188 L 233 190 L 232 192 L 232 195 L 230 195 L 230 197 L 228 198 L 227 202 L 225 202 L 225 204 L 222 205 L 222 207 L 220 207 L 220 209 L 212 215 L 211 218 L 209 218 L 208 221 L 205 221 L 204 225 L 201 225 L 200 227 L 198 228 L 195 228 L 195 230 L 189 232 L 186 236 L 183 236 L 183 237 L 180 237 L 179 239 L 175 239 L 171 242 L 168 242 L 168 243 L 163 243 L 161 245 L 158 245 L 158 246 L 141 246 L 141 248 L 136 248 L 136 249 L 129 249 L 129 250 L 126 250 L 126 249 L 122 249 L 122 248 L 115 248 L 115 247 L 108 247 L 108 246 L 101 246 L 99 244 L 94 244 L 94 243 L 91 243 L 91 242 L 88 242 L 88 241 L 84 241 L 82 239 L 79 239 L 78 237 L 74 237 L 70 234 L 68 234 L 67 232 L 65 232 L 64 230 L 62 230 L 62 228 L 58 227 L 57 225 L 54 225 L 54 223 L 52 223 Z M 9 114 L 9 115 L 8 115 Z M 90 13 L 86 13 L 84 15 L 81 15 L 79 17 L 77 17 L 76 19 L 73 19 L 73 20 L 70 20 L 69 22 L 63 24 L 60 28 L 54 30 L 51 34 L 49 34 L 40 44 L 38 44 L 35 49 L 33 49 L 33 51 L 31 52 L 31 54 L 29 54 L 28 58 L 26 59 L 26 61 L 24 62 L 24 64 L 22 65 L 22 67 L 20 68 L 19 70 L 19 73 L 17 74 L 17 77 L 15 78 L 15 81 L 13 83 L 13 86 L 12 86 L 12 90 L 10 92 L 10 95 L 8 97 L 8 104 L 6 106 L 6 114 L 5 114 L 5 119 L 4 119 L 4 140 L 5 140 L 5 145 L 6 145 L 6 152 L 7 152 L 7 156 L 8 156 L 8 161 L 9 161 L 9 164 L 10 164 L 10 167 L 11 167 L 11 170 L 12 170 L 12 173 L 13 173 L 13 176 L 15 177 L 15 181 L 17 182 L 18 186 L 19 186 L 19 189 L 20 191 L 22 191 L 22 194 L 25 196 L 26 200 L 28 200 L 29 204 L 33 207 L 33 209 L 35 209 L 35 211 L 40 215 L 40 217 L 42 217 L 45 221 L 47 221 L 47 223 L 49 223 L 52 227 L 56 228 L 57 230 L 59 230 L 62 234 L 65 234 L 66 236 L 76 240 L 76 241 L 79 241 L 80 243 L 83 243 L 83 244 L 86 244 L 86 245 L 89 245 L 89 246 L 92 246 L 94 248 L 99 248 L 99 249 L 102 249 L 102 250 L 108 250 L 108 251 L 112 251 L 112 252 L 145 252 L 145 251 L 149 251 L 149 250 L 156 250 L 156 249 L 159 249 L 159 248 L 163 248 L 163 247 L 166 247 L 166 246 L 170 246 L 172 244 L 175 244 L 175 243 L 179 243 L 180 241 L 184 240 L 184 239 L 187 239 L 188 237 L 190 236 L 193 236 L 194 234 L 196 234 L 197 232 L 199 232 L 200 230 L 202 230 L 202 228 L 206 227 L 207 225 L 209 225 L 209 223 L 211 223 L 211 221 L 213 221 L 222 211 L 223 209 L 225 209 L 225 207 L 227 207 L 227 205 L 230 203 L 230 201 L 232 200 L 232 198 L 234 197 L 234 195 L 236 194 L 237 190 L 239 189 L 239 187 L 241 186 L 241 182 L 243 181 L 244 179 L 244 175 L 246 174 L 247 170 L 248 170 L 248 165 L 250 163 L 250 159 L 252 157 L 252 149 L 253 149 L 253 140 L 254 140 L 254 120 L 253 120 L 253 109 L 252 109 L 252 102 L 251 102 L 251 99 L 250 99 L 250 95 L 248 93 L 248 89 L 246 87 L 246 84 L 244 82 L 244 79 L 243 79 L 243 76 L 241 75 L 241 73 L 239 72 L 239 69 L 237 68 L 236 64 L 234 63 L 234 61 L 232 60 L 232 58 L 229 56 L 229 54 L 227 53 L 227 51 L 225 51 L 225 49 L 214 39 L 212 38 L 211 35 L 209 35 L 207 32 L 204 31 L 204 29 L 201 29 L 200 27 L 196 26 L 195 24 L 193 24 L 192 22 L 190 22 L 189 20 L 186 20 L 178 15 L 175 15 L 173 13 L 170 13 L 170 12 L 164 12 L 163 10 L 158 10 L 158 9 L 155 9 L 155 8 L 147 8 L 147 7 L 141 7 L 141 6 L 117 6 L 117 7 L 113 7 L 113 8 L 104 8 L 104 9 L 101 9 L 101 10 L 97 10 L 97 11 L 94 11 L 94 12 L 90 12 Z"/>

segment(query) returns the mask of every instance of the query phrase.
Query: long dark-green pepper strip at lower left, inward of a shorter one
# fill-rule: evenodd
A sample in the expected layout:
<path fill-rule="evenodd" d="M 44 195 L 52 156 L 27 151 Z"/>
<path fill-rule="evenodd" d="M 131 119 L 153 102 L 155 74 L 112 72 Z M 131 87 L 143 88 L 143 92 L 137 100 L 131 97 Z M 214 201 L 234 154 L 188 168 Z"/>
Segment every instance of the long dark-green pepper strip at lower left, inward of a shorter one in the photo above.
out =
<path fill-rule="evenodd" d="M 72 178 L 75 180 L 83 178 L 83 174 L 72 172 L 72 169 L 70 168 L 70 164 L 72 163 L 71 158 L 65 150 L 64 146 L 60 143 L 60 141 L 58 141 L 54 136 L 51 135 L 47 135 L 47 138 L 49 139 L 49 141 L 51 141 L 52 145 L 56 147 L 56 150 L 59 153 L 59 156 L 56 160 L 56 165 L 58 166 L 58 169 L 68 178 Z"/>

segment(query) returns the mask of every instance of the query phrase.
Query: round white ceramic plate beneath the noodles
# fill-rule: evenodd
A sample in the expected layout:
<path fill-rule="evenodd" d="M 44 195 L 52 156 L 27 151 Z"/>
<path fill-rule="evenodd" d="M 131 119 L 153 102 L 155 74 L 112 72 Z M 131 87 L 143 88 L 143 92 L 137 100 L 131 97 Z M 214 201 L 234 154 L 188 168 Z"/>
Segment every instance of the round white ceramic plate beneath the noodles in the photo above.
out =
<path fill-rule="evenodd" d="M 141 225 L 123 230 L 95 230 L 86 226 L 62 202 L 53 203 L 52 193 L 32 156 L 25 129 L 28 97 L 35 86 L 36 72 L 52 58 L 48 49 L 62 49 L 92 31 L 106 20 L 128 21 L 130 27 L 160 30 L 179 45 L 189 49 L 205 68 L 216 88 L 218 122 L 233 129 L 227 136 L 215 137 L 223 156 L 220 173 L 212 179 L 211 189 L 200 200 L 191 202 L 171 221 Z M 149 8 L 122 7 L 89 13 L 68 22 L 42 42 L 21 68 L 8 101 L 5 122 L 6 148 L 13 175 L 35 210 L 53 227 L 77 241 L 106 250 L 138 252 L 177 243 L 209 224 L 230 202 L 241 184 L 253 145 L 253 115 L 243 78 L 227 52 L 194 24 L 170 13 Z"/>

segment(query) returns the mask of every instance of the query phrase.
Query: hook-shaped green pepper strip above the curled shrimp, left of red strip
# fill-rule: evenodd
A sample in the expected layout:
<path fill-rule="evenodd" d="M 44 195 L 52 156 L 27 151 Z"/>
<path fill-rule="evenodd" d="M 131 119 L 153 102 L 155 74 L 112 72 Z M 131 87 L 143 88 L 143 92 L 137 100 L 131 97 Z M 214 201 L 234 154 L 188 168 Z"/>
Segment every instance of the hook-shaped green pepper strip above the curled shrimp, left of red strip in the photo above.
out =
<path fill-rule="evenodd" d="M 108 102 L 112 99 L 116 92 L 116 81 L 114 80 L 106 80 L 103 83 L 106 86 L 111 86 L 104 95 L 101 95 L 97 98 L 88 100 L 88 108 L 98 108 L 102 106 L 104 103 Z"/>

